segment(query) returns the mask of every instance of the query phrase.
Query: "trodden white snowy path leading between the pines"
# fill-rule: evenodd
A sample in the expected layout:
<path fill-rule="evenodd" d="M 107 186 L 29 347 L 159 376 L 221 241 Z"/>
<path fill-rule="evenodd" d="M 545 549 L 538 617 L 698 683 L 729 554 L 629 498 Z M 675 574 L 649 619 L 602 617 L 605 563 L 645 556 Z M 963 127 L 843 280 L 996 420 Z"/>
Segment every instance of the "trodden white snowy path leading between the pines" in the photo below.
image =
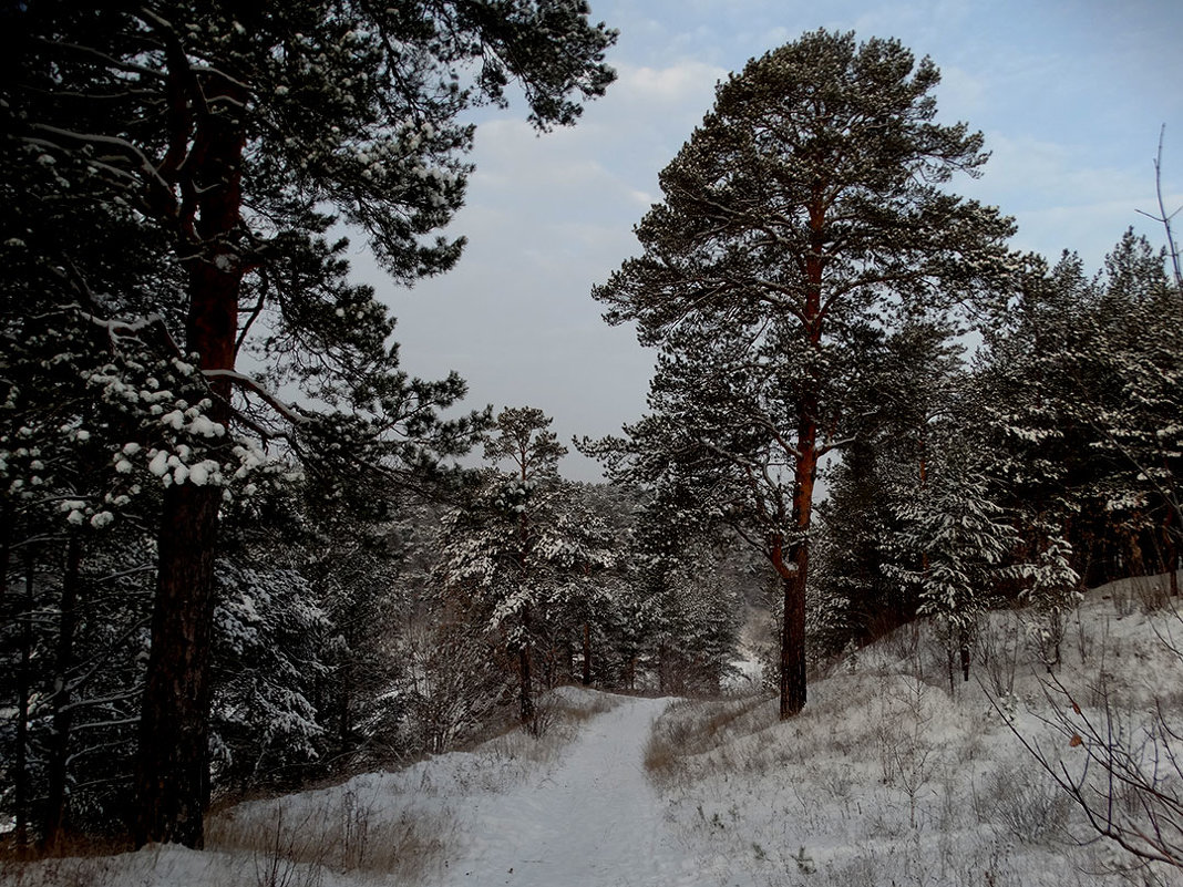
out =
<path fill-rule="evenodd" d="M 668 700 L 622 699 L 588 721 L 541 779 L 461 812 L 446 885 L 644 887 L 702 882 L 645 776 L 649 727 Z"/>

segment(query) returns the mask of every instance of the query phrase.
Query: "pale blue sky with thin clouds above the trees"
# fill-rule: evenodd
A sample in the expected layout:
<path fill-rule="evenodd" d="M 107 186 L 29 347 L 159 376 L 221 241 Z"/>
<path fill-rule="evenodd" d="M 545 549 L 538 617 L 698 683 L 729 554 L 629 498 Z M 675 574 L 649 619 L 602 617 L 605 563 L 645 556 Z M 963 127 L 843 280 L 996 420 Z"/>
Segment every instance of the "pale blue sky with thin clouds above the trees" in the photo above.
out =
<path fill-rule="evenodd" d="M 468 238 L 457 268 L 408 290 L 360 245 L 351 257 L 399 318 L 405 369 L 459 371 L 465 409 L 542 409 L 570 479 L 600 479 L 570 440 L 639 419 L 653 364 L 629 328 L 603 323 L 592 287 L 638 254 L 633 226 L 716 83 L 807 31 L 894 37 L 932 58 L 938 121 L 967 122 L 991 151 L 981 179 L 951 187 L 1015 216 L 1017 248 L 1099 268 L 1130 226 L 1164 242 L 1138 214 L 1157 213 L 1164 124 L 1163 190 L 1169 212 L 1183 206 L 1183 0 L 593 0 L 592 18 L 620 31 L 618 80 L 576 127 L 539 136 L 521 102 L 477 112 L 476 173 L 448 229 Z"/>

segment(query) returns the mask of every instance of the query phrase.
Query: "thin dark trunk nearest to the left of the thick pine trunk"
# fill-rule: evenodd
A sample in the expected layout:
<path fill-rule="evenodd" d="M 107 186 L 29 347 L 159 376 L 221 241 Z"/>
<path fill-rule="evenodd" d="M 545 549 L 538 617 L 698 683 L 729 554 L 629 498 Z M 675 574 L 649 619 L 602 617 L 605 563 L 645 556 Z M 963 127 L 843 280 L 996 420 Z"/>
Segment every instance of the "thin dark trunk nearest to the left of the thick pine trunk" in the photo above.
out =
<path fill-rule="evenodd" d="M 62 840 L 66 812 L 66 777 L 70 759 L 70 669 L 73 668 L 73 636 L 78 624 L 78 583 L 82 572 L 82 542 L 70 535 L 66 569 L 62 580 L 62 616 L 58 627 L 57 676 L 53 692 L 53 745 L 50 750 L 49 797 L 45 804 L 45 828 L 41 846 L 56 848 Z"/>

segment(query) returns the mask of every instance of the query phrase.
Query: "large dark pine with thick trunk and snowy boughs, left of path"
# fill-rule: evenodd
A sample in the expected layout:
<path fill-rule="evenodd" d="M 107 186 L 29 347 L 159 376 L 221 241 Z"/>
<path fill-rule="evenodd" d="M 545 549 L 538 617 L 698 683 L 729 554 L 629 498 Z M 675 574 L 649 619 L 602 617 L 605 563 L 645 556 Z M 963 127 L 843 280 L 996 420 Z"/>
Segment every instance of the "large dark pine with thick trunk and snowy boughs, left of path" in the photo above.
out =
<path fill-rule="evenodd" d="M 138 438 L 127 453 L 112 442 L 112 465 L 166 487 L 140 843 L 202 842 L 218 516 L 252 483 L 259 444 L 283 436 L 318 468 L 380 441 L 375 459 L 405 468 L 471 430 L 438 419 L 463 382 L 399 369 L 393 322 L 347 281 L 327 234 L 338 220 L 363 229 L 400 283 L 451 267 L 463 240 L 433 232 L 464 196 L 472 128 L 458 115 L 504 103 L 517 82 L 537 127 L 573 123 L 613 78 L 615 34 L 588 13 L 582 0 L 43 0 L 0 13 L 2 175 L 41 189 L 5 234 L 6 261 L 32 281 L 9 291 L 6 335 L 22 339 L 27 318 L 7 310 L 20 299 L 51 336 L 90 329 L 75 339 L 105 361 L 79 384 L 132 413 Z M 44 220 L 72 208 L 121 237 L 54 237 Z M 147 266 L 136 286 L 124 261 Z M 252 343 L 271 381 L 300 384 L 332 420 L 240 373 Z"/>

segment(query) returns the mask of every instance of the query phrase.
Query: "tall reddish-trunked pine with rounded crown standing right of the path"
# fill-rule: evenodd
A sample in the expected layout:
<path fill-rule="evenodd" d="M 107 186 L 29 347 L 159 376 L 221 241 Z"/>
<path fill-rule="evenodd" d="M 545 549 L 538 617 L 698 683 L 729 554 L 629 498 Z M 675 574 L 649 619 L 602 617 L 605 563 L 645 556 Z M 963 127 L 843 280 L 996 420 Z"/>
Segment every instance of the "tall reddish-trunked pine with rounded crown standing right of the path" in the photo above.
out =
<path fill-rule="evenodd" d="M 668 447 L 636 460 L 651 474 L 710 464 L 728 479 L 718 514 L 781 577 L 782 717 L 806 701 L 814 481 L 845 440 L 860 349 L 893 315 L 950 307 L 1009 266 L 1011 221 L 943 187 L 987 154 L 965 124 L 935 122 L 938 80 L 898 41 L 852 33 L 754 59 L 661 173 L 642 253 L 594 291 L 665 354 L 646 423 L 665 428 L 626 449 Z"/>

